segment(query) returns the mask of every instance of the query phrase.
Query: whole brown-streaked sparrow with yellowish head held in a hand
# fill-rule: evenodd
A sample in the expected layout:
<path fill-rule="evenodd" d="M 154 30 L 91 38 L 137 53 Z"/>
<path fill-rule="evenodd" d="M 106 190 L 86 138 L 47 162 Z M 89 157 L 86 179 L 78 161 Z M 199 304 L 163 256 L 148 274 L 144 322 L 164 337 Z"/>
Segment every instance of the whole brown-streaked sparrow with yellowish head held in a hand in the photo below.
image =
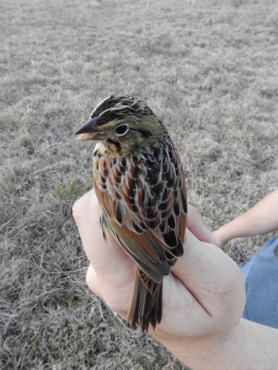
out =
<path fill-rule="evenodd" d="M 103 238 L 135 262 L 127 321 L 153 330 L 162 319 L 163 277 L 183 255 L 185 174 L 166 127 L 141 100 L 111 95 L 74 135 L 97 141 L 93 184 Z"/>

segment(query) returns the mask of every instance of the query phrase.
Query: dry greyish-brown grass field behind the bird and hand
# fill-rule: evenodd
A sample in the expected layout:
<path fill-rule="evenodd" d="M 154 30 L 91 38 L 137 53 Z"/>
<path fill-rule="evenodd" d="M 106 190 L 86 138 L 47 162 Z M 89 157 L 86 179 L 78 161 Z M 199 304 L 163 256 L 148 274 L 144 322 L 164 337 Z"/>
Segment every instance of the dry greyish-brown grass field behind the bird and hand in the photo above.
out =
<path fill-rule="evenodd" d="M 186 369 L 86 286 L 72 205 L 93 144 L 73 132 L 136 96 L 209 227 L 246 211 L 278 184 L 277 1 L 2 0 L 0 40 L 0 369 Z M 225 252 L 241 265 L 270 236 Z"/>

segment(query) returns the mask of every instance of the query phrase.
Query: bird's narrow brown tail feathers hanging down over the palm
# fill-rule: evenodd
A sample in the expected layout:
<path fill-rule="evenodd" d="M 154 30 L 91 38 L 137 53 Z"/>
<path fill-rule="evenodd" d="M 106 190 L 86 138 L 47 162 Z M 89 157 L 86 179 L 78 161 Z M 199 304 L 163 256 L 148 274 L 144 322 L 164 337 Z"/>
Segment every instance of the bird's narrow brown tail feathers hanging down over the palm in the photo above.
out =
<path fill-rule="evenodd" d="M 138 265 L 135 269 L 132 300 L 128 312 L 128 322 L 132 329 L 140 326 L 148 332 L 149 324 L 155 329 L 162 317 L 162 282 L 156 283 Z"/>

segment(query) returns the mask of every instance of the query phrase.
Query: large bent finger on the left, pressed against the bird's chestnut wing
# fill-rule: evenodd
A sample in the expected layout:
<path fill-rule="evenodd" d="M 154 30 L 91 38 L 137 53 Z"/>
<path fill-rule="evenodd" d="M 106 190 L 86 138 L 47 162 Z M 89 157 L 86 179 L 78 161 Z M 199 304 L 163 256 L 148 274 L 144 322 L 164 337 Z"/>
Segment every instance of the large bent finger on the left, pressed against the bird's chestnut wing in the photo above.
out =
<path fill-rule="evenodd" d="M 113 311 L 126 316 L 132 295 L 135 264 L 115 240 L 111 240 L 109 245 L 103 239 L 99 212 L 99 202 L 93 189 L 73 206 L 73 217 L 86 255 L 97 275 L 101 296 Z"/>

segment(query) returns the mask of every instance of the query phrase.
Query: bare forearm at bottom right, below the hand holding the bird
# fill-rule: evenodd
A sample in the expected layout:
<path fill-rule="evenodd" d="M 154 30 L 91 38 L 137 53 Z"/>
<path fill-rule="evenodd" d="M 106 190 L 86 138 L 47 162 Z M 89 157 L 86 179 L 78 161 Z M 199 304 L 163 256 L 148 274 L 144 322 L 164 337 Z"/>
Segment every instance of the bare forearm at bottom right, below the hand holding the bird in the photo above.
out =
<path fill-rule="evenodd" d="M 245 319 L 224 338 L 154 336 L 192 370 L 277 369 L 278 330 Z"/>

